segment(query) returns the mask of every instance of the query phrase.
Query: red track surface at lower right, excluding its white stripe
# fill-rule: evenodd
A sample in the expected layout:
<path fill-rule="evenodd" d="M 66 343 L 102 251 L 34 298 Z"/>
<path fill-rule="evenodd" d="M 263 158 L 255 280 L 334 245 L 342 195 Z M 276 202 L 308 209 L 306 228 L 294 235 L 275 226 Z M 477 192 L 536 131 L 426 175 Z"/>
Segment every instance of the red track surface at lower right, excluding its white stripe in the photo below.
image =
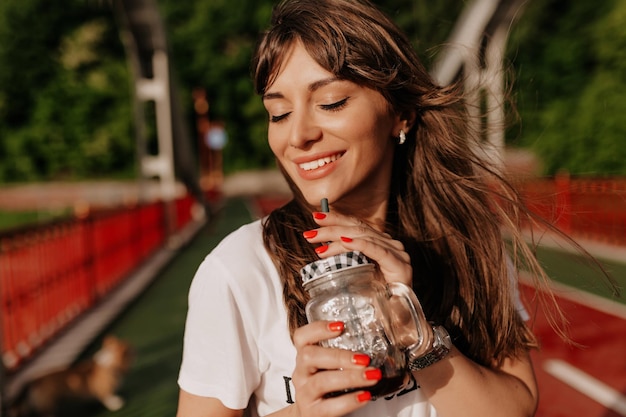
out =
<path fill-rule="evenodd" d="M 284 203 L 284 197 L 258 198 L 256 201 L 259 211 L 265 214 Z M 527 300 L 533 299 L 531 287 L 523 286 L 522 291 Z M 626 416 L 601 405 L 587 393 L 572 388 L 546 371 L 548 361 L 564 361 L 626 396 L 626 313 L 603 312 L 586 302 L 572 301 L 566 293 L 562 295 L 565 297 L 558 296 L 557 299 L 571 323 L 569 336 L 580 346 L 564 342 L 540 310 L 534 314 L 533 330 L 541 345 L 540 350 L 532 354 L 540 392 L 536 417 Z"/>

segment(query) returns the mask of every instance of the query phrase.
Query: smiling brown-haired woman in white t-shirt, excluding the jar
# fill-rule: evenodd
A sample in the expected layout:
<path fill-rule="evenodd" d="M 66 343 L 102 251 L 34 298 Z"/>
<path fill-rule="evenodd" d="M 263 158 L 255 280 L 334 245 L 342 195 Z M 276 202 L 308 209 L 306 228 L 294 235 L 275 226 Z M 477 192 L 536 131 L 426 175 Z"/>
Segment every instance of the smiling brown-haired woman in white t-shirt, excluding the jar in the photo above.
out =
<path fill-rule="evenodd" d="M 179 416 L 241 416 L 248 405 L 263 416 L 532 416 L 536 343 L 501 238 L 514 222 L 491 194 L 513 197 L 473 154 L 459 92 L 435 85 L 365 0 L 284 1 L 253 70 L 294 198 L 200 266 Z M 517 258 L 527 249 L 513 236 Z M 300 268 L 351 250 L 411 285 L 451 336 L 392 398 L 372 401 L 380 373 L 369 358 L 318 345 L 343 323 L 306 322 Z M 365 388 L 327 395 L 354 387 Z"/>

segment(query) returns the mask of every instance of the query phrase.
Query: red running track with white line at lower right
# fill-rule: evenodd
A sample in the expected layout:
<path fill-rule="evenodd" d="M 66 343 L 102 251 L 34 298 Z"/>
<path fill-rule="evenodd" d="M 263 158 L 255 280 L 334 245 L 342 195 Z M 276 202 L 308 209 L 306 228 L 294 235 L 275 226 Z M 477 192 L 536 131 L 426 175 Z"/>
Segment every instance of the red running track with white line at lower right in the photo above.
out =
<path fill-rule="evenodd" d="M 256 206 L 269 213 L 284 202 L 259 198 Z M 522 291 L 533 300 L 530 286 Z M 541 311 L 531 311 L 540 343 L 532 354 L 540 393 L 536 417 L 626 417 L 626 306 L 564 286 L 555 292 L 569 336 L 580 346 L 565 343 Z"/>

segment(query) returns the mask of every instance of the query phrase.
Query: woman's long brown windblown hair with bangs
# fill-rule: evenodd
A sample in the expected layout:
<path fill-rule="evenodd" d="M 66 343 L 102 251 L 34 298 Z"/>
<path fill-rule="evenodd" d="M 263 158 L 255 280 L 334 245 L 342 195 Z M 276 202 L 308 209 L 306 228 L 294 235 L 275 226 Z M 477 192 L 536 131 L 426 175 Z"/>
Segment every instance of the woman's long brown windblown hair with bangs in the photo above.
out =
<path fill-rule="evenodd" d="M 464 96 L 435 84 L 398 27 L 367 0 L 287 0 L 274 10 L 252 62 L 256 91 L 271 86 L 295 42 L 340 79 L 380 92 L 400 115 L 416 114 L 394 156 L 386 232 L 403 242 L 413 288 L 426 317 L 445 325 L 455 345 L 492 366 L 536 346 L 512 299 L 501 228 L 513 233 L 513 258 L 541 273 L 516 232 L 518 197 L 475 154 Z M 294 198 L 264 223 L 264 242 L 284 282 L 293 332 L 306 323 L 308 300 L 299 269 L 318 259 L 302 237 L 317 227 L 286 175 Z"/>

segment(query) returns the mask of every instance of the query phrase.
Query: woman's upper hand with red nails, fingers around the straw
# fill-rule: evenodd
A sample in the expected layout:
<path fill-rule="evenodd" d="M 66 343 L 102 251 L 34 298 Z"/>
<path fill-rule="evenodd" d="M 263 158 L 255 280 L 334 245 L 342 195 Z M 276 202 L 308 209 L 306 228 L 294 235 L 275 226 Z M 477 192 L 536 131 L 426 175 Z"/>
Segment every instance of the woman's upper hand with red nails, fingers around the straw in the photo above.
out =
<path fill-rule="evenodd" d="M 318 229 L 303 233 L 312 244 L 321 244 L 315 251 L 321 258 L 358 250 L 378 264 L 387 282 L 411 286 L 413 268 L 402 242 L 380 232 L 366 222 L 337 212 L 314 212 Z"/>

